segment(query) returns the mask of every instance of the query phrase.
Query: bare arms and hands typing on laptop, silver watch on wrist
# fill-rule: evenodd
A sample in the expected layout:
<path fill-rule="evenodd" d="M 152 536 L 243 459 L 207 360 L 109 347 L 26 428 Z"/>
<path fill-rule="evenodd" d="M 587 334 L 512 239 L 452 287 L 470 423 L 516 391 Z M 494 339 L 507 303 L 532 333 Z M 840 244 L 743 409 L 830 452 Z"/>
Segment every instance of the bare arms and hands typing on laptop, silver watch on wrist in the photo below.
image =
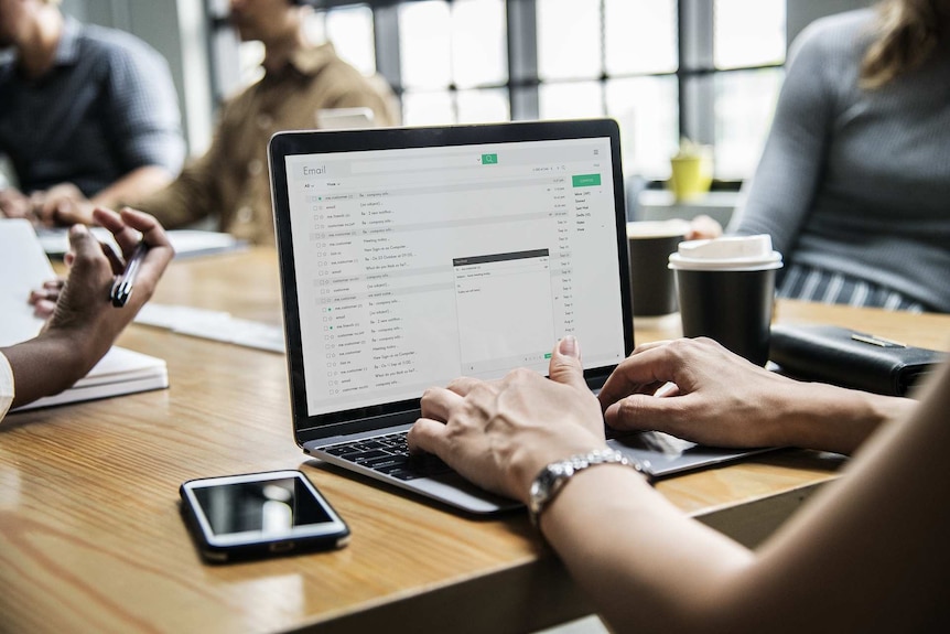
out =
<path fill-rule="evenodd" d="M 710 340 L 679 340 L 637 347 L 598 401 L 565 337 L 550 377 L 521 369 L 429 389 L 409 447 L 525 502 L 614 628 L 946 628 L 947 367 L 917 405 L 799 384 Z M 604 418 L 710 444 L 861 451 L 751 551 L 687 517 L 607 449 Z"/>

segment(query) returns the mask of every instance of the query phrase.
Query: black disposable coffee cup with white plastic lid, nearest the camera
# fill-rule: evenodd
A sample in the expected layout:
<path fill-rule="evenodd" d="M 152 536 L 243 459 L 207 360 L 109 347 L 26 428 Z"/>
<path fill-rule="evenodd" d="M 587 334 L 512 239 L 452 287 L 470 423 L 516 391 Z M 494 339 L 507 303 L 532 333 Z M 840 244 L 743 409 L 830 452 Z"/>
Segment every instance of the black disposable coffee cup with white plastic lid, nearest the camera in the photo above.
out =
<path fill-rule="evenodd" d="M 689 240 L 670 255 L 683 336 L 708 336 L 756 365 L 768 361 L 775 271 L 767 235 Z"/>

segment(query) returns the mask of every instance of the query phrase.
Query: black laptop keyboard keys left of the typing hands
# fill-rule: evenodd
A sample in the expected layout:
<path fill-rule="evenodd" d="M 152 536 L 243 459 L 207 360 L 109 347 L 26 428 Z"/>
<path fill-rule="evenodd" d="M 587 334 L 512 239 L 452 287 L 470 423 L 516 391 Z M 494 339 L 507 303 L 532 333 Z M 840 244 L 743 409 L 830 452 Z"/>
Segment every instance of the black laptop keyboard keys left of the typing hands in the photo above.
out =
<path fill-rule="evenodd" d="M 399 480 L 429 477 L 452 471 L 452 468 L 431 453 L 410 454 L 406 434 L 407 432 L 400 431 L 334 444 L 322 448 L 322 450 L 336 458 L 367 466 Z"/>

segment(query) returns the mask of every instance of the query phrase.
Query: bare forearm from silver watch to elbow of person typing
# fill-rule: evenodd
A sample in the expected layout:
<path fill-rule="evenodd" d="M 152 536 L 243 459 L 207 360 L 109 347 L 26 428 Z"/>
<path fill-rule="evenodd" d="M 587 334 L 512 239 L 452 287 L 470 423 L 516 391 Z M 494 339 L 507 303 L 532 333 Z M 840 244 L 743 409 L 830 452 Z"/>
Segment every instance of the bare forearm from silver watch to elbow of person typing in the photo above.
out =
<path fill-rule="evenodd" d="M 732 615 L 722 598 L 754 561 L 749 550 L 688 518 L 624 466 L 575 475 L 541 516 L 541 528 L 619 631 L 725 623 Z"/>

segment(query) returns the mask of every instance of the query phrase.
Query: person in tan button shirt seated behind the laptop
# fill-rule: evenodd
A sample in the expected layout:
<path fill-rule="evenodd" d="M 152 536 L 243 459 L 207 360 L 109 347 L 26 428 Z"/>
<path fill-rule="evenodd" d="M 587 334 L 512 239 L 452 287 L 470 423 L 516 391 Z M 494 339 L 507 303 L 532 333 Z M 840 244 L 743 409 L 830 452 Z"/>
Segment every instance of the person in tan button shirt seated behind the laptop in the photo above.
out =
<path fill-rule="evenodd" d="M 303 1 L 231 0 L 230 21 L 245 42 L 265 45 L 263 77 L 225 104 L 208 151 L 166 187 L 127 201 L 166 228 L 207 217 L 219 230 L 252 244 L 273 244 L 267 144 L 280 130 L 317 127 L 317 111 L 366 107 L 374 125 L 399 122 L 388 86 L 341 60 L 333 44 L 314 45 L 303 32 Z M 57 217 L 57 224 L 88 223 Z"/>

